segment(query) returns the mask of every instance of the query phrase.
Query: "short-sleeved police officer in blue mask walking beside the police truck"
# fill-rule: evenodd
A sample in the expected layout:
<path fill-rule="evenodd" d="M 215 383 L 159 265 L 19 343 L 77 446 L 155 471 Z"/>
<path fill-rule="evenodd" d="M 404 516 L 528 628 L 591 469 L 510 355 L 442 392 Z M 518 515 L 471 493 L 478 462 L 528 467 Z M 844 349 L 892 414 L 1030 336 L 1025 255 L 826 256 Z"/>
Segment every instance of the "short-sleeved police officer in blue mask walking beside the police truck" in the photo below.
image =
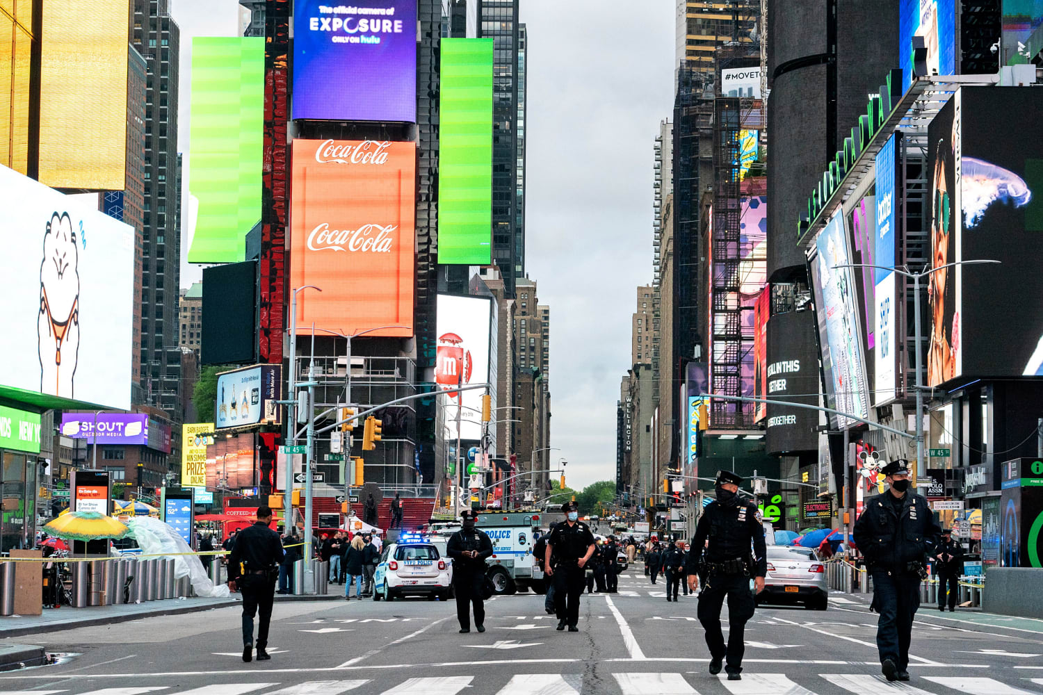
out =
<path fill-rule="evenodd" d="M 580 595 L 583 593 L 584 567 L 593 554 L 595 542 L 590 528 L 579 520 L 576 502 L 561 505 L 565 521 L 559 523 L 547 539 L 547 573 L 554 577 L 555 609 L 558 629 L 568 626 L 578 632 L 580 621 Z"/>

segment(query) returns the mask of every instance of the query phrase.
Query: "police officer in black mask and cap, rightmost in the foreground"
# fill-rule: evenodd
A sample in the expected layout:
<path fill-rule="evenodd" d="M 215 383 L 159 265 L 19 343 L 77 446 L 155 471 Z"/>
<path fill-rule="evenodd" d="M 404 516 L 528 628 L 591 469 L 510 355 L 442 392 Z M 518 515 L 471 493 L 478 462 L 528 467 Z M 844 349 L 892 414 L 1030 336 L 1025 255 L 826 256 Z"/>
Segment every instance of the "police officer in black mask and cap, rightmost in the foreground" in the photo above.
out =
<path fill-rule="evenodd" d="M 913 616 L 920 607 L 920 582 L 927 578 L 924 561 L 933 554 L 941 528 L 927 500 L 909 489 L 904 458 L 880 472 L 891 489 L 866 500 L 854 525 L 854 542 L 873 575 L 873 602 L 880 613 L 880 669 L 888 680 L 908 680 Z"/>

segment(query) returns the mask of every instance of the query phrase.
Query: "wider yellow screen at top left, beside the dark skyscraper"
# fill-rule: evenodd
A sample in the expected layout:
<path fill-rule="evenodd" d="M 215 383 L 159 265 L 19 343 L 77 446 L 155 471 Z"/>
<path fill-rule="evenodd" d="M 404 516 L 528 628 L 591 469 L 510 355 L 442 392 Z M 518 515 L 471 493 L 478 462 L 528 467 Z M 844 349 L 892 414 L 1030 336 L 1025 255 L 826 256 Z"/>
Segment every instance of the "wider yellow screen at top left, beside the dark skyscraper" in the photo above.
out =
<path fill-rule="evenodd" d="M 44 3 L 41 183 L 124 189 L 129 13 L 128 0 Z"/>

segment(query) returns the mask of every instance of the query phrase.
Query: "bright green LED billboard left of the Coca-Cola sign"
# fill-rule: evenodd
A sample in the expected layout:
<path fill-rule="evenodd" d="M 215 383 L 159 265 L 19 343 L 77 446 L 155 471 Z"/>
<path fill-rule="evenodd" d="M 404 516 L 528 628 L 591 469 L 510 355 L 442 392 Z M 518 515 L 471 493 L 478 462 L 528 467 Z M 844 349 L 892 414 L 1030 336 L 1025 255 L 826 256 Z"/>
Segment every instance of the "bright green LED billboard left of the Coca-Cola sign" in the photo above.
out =
<path fill-rule="evenodd" d="M 264 39 L 192 40 L 189 193 L 199 201 L 190 263 L 235 263 L 261 221 Z"/>

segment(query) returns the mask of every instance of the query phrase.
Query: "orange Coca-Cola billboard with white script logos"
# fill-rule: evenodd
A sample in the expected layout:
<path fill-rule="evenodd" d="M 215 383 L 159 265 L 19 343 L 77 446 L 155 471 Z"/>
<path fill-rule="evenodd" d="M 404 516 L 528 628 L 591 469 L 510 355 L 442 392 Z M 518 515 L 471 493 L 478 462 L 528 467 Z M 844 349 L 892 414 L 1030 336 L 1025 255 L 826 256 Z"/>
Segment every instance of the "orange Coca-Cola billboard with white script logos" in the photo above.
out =
<path fill-rule="evenodd" d="M 293 141 L 291 287 L 297 327 L 413 334 L 416 144 Z"/>

